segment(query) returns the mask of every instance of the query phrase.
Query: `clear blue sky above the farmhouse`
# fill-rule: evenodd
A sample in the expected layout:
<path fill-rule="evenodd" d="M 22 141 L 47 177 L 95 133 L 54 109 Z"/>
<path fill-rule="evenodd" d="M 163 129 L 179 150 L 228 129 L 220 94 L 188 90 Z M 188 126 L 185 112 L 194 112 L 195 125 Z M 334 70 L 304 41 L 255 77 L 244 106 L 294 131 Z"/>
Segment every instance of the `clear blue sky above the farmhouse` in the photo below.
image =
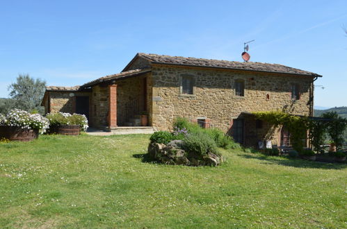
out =
<path fill-rule="evenodd" d="M 347 1 L 2 1 L 0 97 L 18 74 L 81 85 L 138 52 L 296 67 L 323 75 L 315 105 L 347 105 Z"/>

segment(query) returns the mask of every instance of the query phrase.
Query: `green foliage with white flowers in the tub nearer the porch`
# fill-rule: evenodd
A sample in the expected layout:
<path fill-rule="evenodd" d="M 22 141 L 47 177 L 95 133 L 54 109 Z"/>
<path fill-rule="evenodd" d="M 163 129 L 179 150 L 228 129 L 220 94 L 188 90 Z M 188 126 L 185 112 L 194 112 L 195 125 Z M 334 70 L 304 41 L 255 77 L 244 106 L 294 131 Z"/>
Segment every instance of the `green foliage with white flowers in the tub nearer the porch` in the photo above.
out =
<path fill-rule="evenodd" d="M 58 112 L 47 114 L 51 126 L 77 125 L 81 127 L 81 131 L 86 131 L 88 128 L 88 119 L 84 114 L 69 114 Z"/>

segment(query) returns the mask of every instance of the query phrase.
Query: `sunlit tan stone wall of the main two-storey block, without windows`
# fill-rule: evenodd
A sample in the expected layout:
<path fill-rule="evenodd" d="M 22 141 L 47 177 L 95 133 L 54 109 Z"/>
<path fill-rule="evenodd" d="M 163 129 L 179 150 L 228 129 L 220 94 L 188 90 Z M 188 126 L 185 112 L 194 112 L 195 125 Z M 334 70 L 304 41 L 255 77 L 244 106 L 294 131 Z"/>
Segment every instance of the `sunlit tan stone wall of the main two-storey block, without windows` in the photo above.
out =
<path fill-rule="evenodd" d="M 195 79 L 193 95 L 180 94 L 182 76 L 191 76 Z M 211 126 L 227 133 L 232 128 L 232 120 L 242 118 L 242 112 L 286 110 L 291 114 L 309 115 L 307 102 L 313 78 L 286 74 L 154 66 L 152 80 L 154 127 L 159 130 L 172 129 L 175 117 L 186 117 L 190 120 L 205 117 L 210 119 Z M 235 80 L 243 80 L 245 83 L 245 96 L 235 96 Z M 300 85 L 298 101 L 291 100 L 293 83 Z M 249 135 L 254 134 L 249 133 Z M 278 142 L 278 137 L 273 139 Z"/>

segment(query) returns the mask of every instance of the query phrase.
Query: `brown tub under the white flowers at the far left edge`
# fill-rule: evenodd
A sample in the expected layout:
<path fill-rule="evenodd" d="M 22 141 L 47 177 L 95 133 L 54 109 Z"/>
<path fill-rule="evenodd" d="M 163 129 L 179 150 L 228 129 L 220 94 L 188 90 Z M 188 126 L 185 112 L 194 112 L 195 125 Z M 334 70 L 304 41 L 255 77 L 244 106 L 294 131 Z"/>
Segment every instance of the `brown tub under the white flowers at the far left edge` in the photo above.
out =
<path fill-rule="evenodd" d="M 10 141 L 29 142 L 38 138 L 38 130 L 18 126 L 0 126 L 0 138 L 3 137 Z"/>

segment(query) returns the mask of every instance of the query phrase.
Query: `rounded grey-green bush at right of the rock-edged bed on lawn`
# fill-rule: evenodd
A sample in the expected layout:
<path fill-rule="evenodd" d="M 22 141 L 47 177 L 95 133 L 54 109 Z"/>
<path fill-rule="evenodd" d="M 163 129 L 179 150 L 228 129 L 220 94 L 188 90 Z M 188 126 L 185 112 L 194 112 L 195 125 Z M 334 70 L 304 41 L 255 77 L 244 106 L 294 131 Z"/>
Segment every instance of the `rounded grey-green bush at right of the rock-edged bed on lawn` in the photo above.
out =
<path fill-rule="evenodd" d="M 183 148 L 188 153 L 204 157 L 208 153 L 218 153 L 216 142 L 207 133 L 191 133 L 184 139 Z"/>

